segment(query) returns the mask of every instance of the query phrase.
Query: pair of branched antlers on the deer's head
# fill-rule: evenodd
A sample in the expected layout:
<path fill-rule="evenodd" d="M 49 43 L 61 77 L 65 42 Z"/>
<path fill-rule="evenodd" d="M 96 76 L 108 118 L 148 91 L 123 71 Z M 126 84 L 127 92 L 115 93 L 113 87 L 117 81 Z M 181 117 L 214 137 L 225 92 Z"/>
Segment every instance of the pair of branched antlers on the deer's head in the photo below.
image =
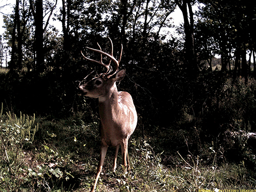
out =
<path fill-rule="evenodd" d="M 111 77 L 111 76 L 114 75 L 114 74 L 116 73 L 116 71 L 118 70 L 119 63 L 120 63 L 121 57 L 122 57 L 122 50 L 123 50 L 123 46 L 121 45 L 120 57 L 119 57 L 119 60 L 116 60 L 116 58 L 113 56 L 113 43 L 112 43 L 111 38 L 109 38 L 109 39 L 110 39 L 111 48 L 112 48 L 112 49 L 111 49 L 111 54 L 108 54 L 108 53 L 105 53 L 105 52 L 101 51 L 101 48 L 100 48 L 100 46 L 99 46 L 98 43 L 97 43 L 97 44 L 98 44 L 98 46 L 99 46 L 99 50 L 86 47 L 87 49 L 89 49 L 89 50 L 91 50 L 91 51 L 94 51 L 94 52 L 96 52 L 96 53 L 100 53 L 100 61 L 97 61 L 97 60 L 94 60 L 94 59 L 90 59 L 90 58 L 88 58 L 88 57 L 86 57 L 86 56 L 84 56 L 84 55 L 82 54 L 82 56 L 83 56 L 84 58 L 86 58 L 87 60 L 92 61 L 92 62 L 99 63 L 100 65 L 102 65 L 102 66 L 104 66 L 106 69 L 108 69 L 108 71 L 105 73 L 106 78 Z M 82 51 L 81 51 L 81 53 L 82 53 Z M 106 65 L 106 64 L 104 64 L 104 63 L 102 62 L 102 55 L 105 55 L 105 56 L 107 56 L 107 57 L 109 57 L 109 58 L 111 59 L 108 65 Z M 115 68 L 114 68 L 114 70 L 113 70 L 112 67 L 110 66 L 111 61 L 113 61 L 113 62 L 115 63 Z"/>

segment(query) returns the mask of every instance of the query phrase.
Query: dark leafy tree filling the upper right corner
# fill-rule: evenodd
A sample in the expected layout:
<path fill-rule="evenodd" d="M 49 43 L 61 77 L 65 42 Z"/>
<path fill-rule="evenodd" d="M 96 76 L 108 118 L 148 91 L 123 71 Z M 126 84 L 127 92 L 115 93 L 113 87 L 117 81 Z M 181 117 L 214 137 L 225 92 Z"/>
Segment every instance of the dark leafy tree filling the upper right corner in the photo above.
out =
<path fill-rule="evenodd" d="M 204 24 L 211 28 L 211 37 L 216 39 L 221 54 L 222 71 L 227 71 L 231 54 L 234 54 L 234 77 L 237 73 L 247 79 L 249 66 L 246 61 L 247 49 L 253 49 L 255 35 L 256 6 L 246 1 L 211 1 L 204 0 L 201 18 Z M 240 66 L 240 60 L 242 66 Z M 241 68 L 241 71 L 240 71 Z"/>

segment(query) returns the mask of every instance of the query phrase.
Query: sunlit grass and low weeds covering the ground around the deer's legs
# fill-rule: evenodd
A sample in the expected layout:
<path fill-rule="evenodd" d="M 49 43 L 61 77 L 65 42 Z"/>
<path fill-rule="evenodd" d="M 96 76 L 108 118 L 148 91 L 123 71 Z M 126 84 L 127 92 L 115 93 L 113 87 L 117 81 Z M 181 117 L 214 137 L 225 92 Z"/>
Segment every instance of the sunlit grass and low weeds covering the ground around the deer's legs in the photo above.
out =
<path fill-rule="evenodd" d="M 90 190 L 99 157 L 97 119 L 90 122 L 82 113 L 65 119 L 15 116 L 3 110 L 0 115 L 0 191 Z M 168 146 L 163 143 L 166 133 L 143 140 L 137 127 L 130 140 L 128 172 L 120 165 L 120 155 L 117 172 L 112 172 L 110 148 L 96 191 L 255 189 L 254 167 L 243 161 L 218 161 L 223 154 L 214 143 L 202 144 L 198 155 L 177 152 L 172 145 L 188 146 L 191 133 L 165 132 L 174 139 Z"/>

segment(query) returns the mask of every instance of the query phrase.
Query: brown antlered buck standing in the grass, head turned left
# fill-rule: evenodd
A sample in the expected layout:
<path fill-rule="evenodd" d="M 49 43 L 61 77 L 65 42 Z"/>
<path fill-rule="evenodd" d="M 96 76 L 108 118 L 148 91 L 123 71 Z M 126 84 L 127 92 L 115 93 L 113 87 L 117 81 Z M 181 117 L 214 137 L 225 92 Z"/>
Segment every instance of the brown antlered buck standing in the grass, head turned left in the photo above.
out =
<path fill-rule="evenodd" d="M 111 39 L 110 42 L 112 46 L 111 54 L 101 51 L 99 45 L 100 50 L 87 47 L 89 50 L 99 53 L 100 60 L 93 60 L 84 55 L 83 57 L 89 61 L 99 63 L 108 69 L 108 71 L 84 84 L 79 84 L 78 87 L 79 95 L 99 98 L 99 115 L 101 121 L 99 129 L 101 137 L 100 160 L 91 192 L 96 188 L 108 146 L 116 147 L 113 164 L 114 172 L 116 170 L 119 145 L 121 145 L 122 164 L 129 168 L 127 145 L 128 140 L 137 125 L 137 113 L 132 96 L 127 92 L 117 91 L 116 87 L 116 81 L 122 80 L 125 75 L 125 70 L 118 71 L 119 62 L 122 56 L 122 48 L 120 58 L 119 60 L 116 60 L 113 56 L 113 44 Z M 108 65 L 105 65 L 102 62 L 102 55 L 110 58 Z M 111 66 L 111 61 L 114 63 L 113 68 Z"/>

